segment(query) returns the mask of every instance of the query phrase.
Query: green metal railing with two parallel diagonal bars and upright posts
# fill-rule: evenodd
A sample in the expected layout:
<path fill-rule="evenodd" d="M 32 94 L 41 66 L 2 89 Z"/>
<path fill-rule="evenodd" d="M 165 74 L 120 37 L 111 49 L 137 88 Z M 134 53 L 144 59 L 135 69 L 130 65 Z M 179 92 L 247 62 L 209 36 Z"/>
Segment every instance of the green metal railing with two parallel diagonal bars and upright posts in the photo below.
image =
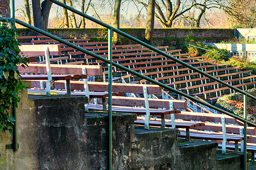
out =
<path fill-rule="evenodd" d="M 12 0 L 12 1 L 14 2 L 14 0 Z M 140 77 L 140 78 L 142 78 L 142 79 L 146 79 L 148 82 L 151 82 L 151 83 L 154 83 L 154 84 L 158 84 L 160 87 L 166 88 L 167 90 L 170 90 L 170 91 L 172 91 L 172 92 L 175 92 L 176 94 L 179 94 L 179 95 L 181 95 L 181 96 L 185 96 L 185 97 L 187 97 L 188 99 L 191 99 L 192 101 L 195 101 L 195 102 L 197 102 L 197 103 L 206 105 L 206 106 L 209 107 L 209 108 L 215 109 L 216 111 L 219 111 L 219 112 L 224 113 L 224 114 L 228 114 L 229 116 L 234 117 L 234 118 L 237 118 L 238 120 L 242 121 L 242 122 L 244 123 L 244 138 L 243 138 L 243 139 L 244 139 L 244 141 L 245 141 L 245 142 L 244 142 L 244 148 L 245 148 L 245 149 L 244 149 L 243 154 L 244 154 L 244 161 L 245 161 L 244 167 L 245 167 L 245 169 L 246 169 L 246 160 L 247 160 L 247 158 L 246 158 L 246 126 L 247 126 L 247 124 L 249 124 L 249 125 L 251 125 L 251 126 L 256 127 L 256 124 L 253 124 L 252 122 L 249 122 L 249 121 L 246 120 L 246 107 L 247 107 L 246 99 L 247 99 L 247 96 L 249 96 L 249 97 L 253 98 L 254 100 L 256 100 L 256 97 L 255 97 L 255 96 L 253 96 L 253 95 L 251 95 L 251 94 L 247 94 L 246 92 L 240 90 L 239 88 L 236 88 L 236 87 L 234 87 L 234 86 L 232 86 L 232 85 L 230 85 L 230 84 L 228 84 L 228 83 L 225 83 L 225 82 L 223 82 L 222 80 L 217 79 L 217 78 L 215 78 L 215 77 L 212 76 L 212 75 L 209 75 L 209 74 L 207 74 L 207 73 L 204 73 L 203 71 L 201 71 L 201 70 L 199 70 L 199 69 L 196 69 L 195 67 L 193 67 L 193 66 L 191 66 L 191 65 L 188 65 L 187 63 L 185 63 L 185 62 L 183 62 L 183 61 L 180 61 L 179 59 L 177 59 L 177 58 L 175 58 L 175 57 L 172 57 L 172 56 L 170 56 L 170 55 L 167 54 L 167 53 L 164 53 L 162 50 L 159 50 L 159 49 L 157 49 L 157 48 L 154 48 L 153 46 L 148 45 L 148 44 L 146 44 L 145 42 L 143 42 L 143 41 L 141 41 L 141 40 L 138 40 L 138 39 L 136 39 L 135 37 L 130 36 L 130 35 L 128 35 L 127 33 L 122 32 L 122 31 L 120 31 L 119 29 L 116 29 L 116 28 L 114 28 L 114 27 L 112 27 L 112 26 L 110 26 L 110 25 L 108 25 L 108 24 L 102 23 L 100 20 L 94 19 L 94 18 L 92 18 L 92 17 L 89 16 L 89 15 L 86 15 L 86 14 L 84 14 L 84 13 L 78 11 L 78 10 L 75 10 L 74 8 L 69 7 L 69 6 L 65 5 L 64 3 L 61 3 L 61 2 L 56 1 L 56 0 L 48 0 L 48 1 L 51 1 L 51 2 L 53 2 L 53 3 L 56 3 L 57 5 L 59 5 L 59 6 L 61 6 L 61 7 L 67 8 L 68 10 L 70 10 L 70 11 L 72 11 L 72 12 L 75 12 L 76 14 L 78 14 L 78 15 L 80 15 L 80 16 L 83 16 L 83 17 L 86 18 L 86 19 L 92 20 L 93 22 L 95 22 L 95 23 L 97 23 L 97 24 L 100 24 L 100 25 L 102 25 L 102 26 L 105 27 L 105 28 L 108 28 L 108 30 L 109 30 L 109 58 L 106 59 L 106 58 L 101 57 L 101 56 L 99 56 L 99 55 L 97 55 L 97 54 L 95 54 L 95 53 L 92 53 L 92 52 L 90 52 L 90 51 L 88 51 L 88 50 L 85 50 L 85 49 L 81 48 L 80 46 L 74 45 L 74 44 L 72 44 L 71 42 L 65 41 L 65 40 L 63 40 L 63 39 L 60 39 L 59 37 L 56 37 L 56 36 L 54 36 L 54 35 L 51 35 L 50 33 L 46 32 L 46 31 L 43 31 L 42 29 L 33 27 L 32 25 L 27 24 L 27 23 L 24 23 L 24 22 L 22 22 L 21 20 L 18 20 L 18 19 L 15 20 L 15 19 L 13 19 L 13 20 L 15 20 L 16 23 L 18 23 L 18 24 L 20 24 L 20 25 L 23 25 L 24 27 L 27 27 L 27 28 L 31 29 L 32 31 L 38 32 L 38 33 L 40 33 L 40 34 L 42 34 L 42 35 L 44 35 L 44 36 L 47 36 L 47 37 L 49 37 L 49 38 L 51 38 L 51 39 L 53 39 L 53 40 L 57 40 L 57 41 L 59 41 L 59 42 L 65 44 L 65 45 L 71 46 L 71 47 L 74 48 L 74 49 L 80 50 L 80 51 L 83 52 L 83 53 L 86 53 L 86 54 L 88 54 L 88 55 L 90 55 L 90 56 L 92 56 L 92 57 L 94 57 L 94 58 L 100 59 L 101 61 L 104 61 L 104 62 L 108 63 L 108 68 L 109 68 L 109 99 L 110 99 L 110 100 L 109 100 L 109 169 L 112 169 L 112 108 L 111 108 L 111 106 L 112 106 L 112 100 L 111 100 L 111 99 L 112 99 L 112 98 L 111 98 L 111 97 L 112 97 L 112 65 L 115 66 L 115 67 L 118 67 L 119 69 L 125 70 L 125 71 L 127 71 L 128 73 L 137 75 L 138 77 Z M 14 7 L 14 6 L 13 6 L 13 7 Z M 7 20 L 7 19 L 1 19 L 1 20 Z M 175 61 L 175 62 L 177 62 L 177 63 L 180 63 L 181 65 L 186 66 L 186 67 L 188 67 L 188 68 L 191 69 L 191 70 L 194 70 L 194 71 L 196 71 L 196 72 L 198 72 L 198 73 L 200 73 L 200 74 L 202 74 L 202 75 L 204 75 L 204 76 L 207 76 L 208 78 L 213 79 L 213 80 L 215 80 L 216 82 L 218 82 L 218 83 L 220 83 L 220 84 L 224 84 L 225 86 L 227 86 L 227 87 L 229 87 L 229 88 L 232 88 L 233 90 L 236 90 L 236 91 L 238 91 L 238 92 L 241 92 L 241 94 L 244 95 L 244 105 L 245 105 L 245 107 L 244 107 L 244 117 L 241 118 L 241 117 L 236 116 L 236 115 L 234 115 L 234 114 L 232 114 L 232 113 L 226 112 L 226 111 L 224 111 L 224 110 L 222 110 L 222 109 L 220 109 L 220 108 L 214 107 L 213 105 L 210 105 L 210 104 L 208 104 L 208 103 L 204 103 L 203 101 L 201 101 L 201 100 L 199 100 L 199 99 L 195 99 L 194 97 L 189 96 L 189 95 L 187 95 L 187 94 L 184 94 L 184 93 L 181 92 L 181 91 L 175 90 L 174 88 L 172 88 L 172 87 L 170 87 L 170 86 L 167 86 L 166 84 L 157 82 L 157 81 L 154 80 L 154 79 L 148 78 L 147 76 L 144 76 L 144 75 L 142 75 L 142 74 L 139 74 L 139 73 L 137 73 L 136 71 L 130 70 L 130 69 L 128 69 L 128 68 L 125 67 L 125 66 L 122 66 L 122 65 L 119 65 L 118 63 L 113 62 L 113 61 L 112 61 L 112 32 L 113 32 L 113 31 L 116 32 L 116 33 L 119 33 L 120 35 L 122 35 L 122 36 L 124 36 L 124 37 L 127 37 L 127 38 L 130 39 L 130 40 L 133 40 L 133 41 L 135 41 L 135 42 L 138 42 L 138 44 L 141 44 L 141 45 L 143 45 L 143 46 L 146 46 L 147 48 L 153 50 L 154 52 L 157 52 L 157 53 L 161 54 L 162 56 L 165 56 L 165 57 L 167 57 L 167 58 L 170 58 L 170 59 L 172 59 L 173 61 Z"/>

